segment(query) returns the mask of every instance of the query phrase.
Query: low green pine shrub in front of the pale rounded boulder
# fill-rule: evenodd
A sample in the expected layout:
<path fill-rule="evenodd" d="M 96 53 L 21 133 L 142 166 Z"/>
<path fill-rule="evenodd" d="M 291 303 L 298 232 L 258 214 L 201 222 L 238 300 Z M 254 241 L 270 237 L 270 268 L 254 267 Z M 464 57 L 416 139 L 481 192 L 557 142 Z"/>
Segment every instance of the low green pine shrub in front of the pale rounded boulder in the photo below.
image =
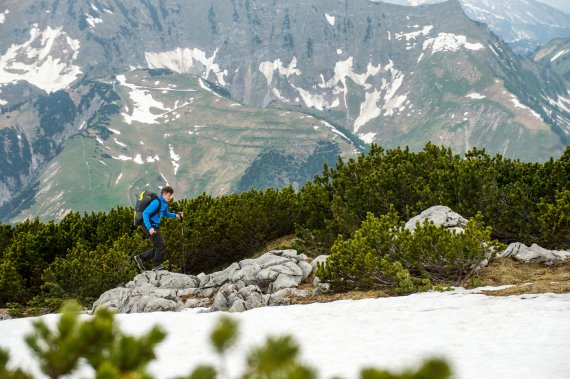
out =
<path fill-rule="evenodd" d="M 333 291 L 393 288 L 411 293 L 432 284 L 459 283 L 495 250 L 491 229 L 477 215 L 464 233 L 427 222 L 414 233 L 403 227 L 394 209 L 376 218 L 371 213 L 354 237 L 339 237 L 317 276 Z"/>

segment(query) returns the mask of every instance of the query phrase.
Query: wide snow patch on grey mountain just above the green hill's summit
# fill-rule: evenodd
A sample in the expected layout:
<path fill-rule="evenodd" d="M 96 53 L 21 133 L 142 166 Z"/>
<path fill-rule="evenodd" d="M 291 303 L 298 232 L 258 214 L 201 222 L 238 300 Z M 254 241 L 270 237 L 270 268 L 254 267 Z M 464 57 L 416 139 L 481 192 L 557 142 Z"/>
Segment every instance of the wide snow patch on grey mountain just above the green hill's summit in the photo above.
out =
<path fill-rule="evenodd" d="M 202 72 L 199 74 L 204 78 L 208 78 L 210 74 L 214 74 L 216 81 L 225 86 L 227 83 L 224 76 L 228 75 L 228 70 L 222 70 L 217 63 L 214 63 L 218 49 L 210 57 L 205 51 L 194 48 L 177 48 L 165 52 L 145 52 L 144 56 L 149 68 L 168 68 L 174 72 L 184 74 L 196 74 L 197 65 L 203 66 Z"/>

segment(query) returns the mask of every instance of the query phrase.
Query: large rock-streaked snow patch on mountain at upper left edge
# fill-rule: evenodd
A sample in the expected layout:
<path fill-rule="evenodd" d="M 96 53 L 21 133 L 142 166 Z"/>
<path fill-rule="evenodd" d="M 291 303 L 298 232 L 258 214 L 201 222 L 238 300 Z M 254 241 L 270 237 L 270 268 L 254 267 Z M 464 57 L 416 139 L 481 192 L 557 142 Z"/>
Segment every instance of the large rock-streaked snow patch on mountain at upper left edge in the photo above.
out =
<path fill-rule="evenodd" d="M 81 74 L 73 65 L 78 54 L 79 40 L 63 26 L 40 30 L 36 24 L 26 42 L 13 44 L 0 56 L 0 86 L 23 80 L 46 92 L 64 89 Z"/>

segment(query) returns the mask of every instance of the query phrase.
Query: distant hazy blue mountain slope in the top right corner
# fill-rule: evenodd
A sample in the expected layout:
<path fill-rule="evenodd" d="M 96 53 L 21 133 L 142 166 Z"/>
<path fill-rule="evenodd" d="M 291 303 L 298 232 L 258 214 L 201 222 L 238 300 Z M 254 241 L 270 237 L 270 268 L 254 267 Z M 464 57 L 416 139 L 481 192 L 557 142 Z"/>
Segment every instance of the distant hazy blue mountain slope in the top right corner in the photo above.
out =
<path fill-rule="evenodd" d="M 380 0 L 378 0 L 380 1 Z M 418 6 L 442 0 L 382 0 Z M 483 22 L 518 54 L 527 55 L 555 38 L 570 37 L 570 15 L 535 0 L 460 0 L 465 13 Z"/>

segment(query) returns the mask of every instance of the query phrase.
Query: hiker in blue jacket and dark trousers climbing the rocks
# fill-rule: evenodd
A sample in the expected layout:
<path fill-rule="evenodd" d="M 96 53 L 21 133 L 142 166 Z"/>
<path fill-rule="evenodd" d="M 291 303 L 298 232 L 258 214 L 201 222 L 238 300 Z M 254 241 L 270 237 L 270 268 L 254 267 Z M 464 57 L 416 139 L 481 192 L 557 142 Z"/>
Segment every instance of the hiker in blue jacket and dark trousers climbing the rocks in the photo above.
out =
<path fill-rule="evenodd" d="M 184 216 L 182 212 L 172 213 L 168 211 L 168 202 L 172 200 L 173 195 L 174 190 L 172 187 L 162 187 L 160 196 L 152 200 L 142 212 L 142 228 L 145 234 L 150 237 L 153 247 L 144 253 L 133 257 L 141 271 L 144 271 L 145 269 L 143 261 L 151 258 L 153 271 L 166 270 L 162 265 L 166 244 L 164 243 L 164 238 L 162 238 L 159 230 L 160 219 L 162 217 L 182 218 Z"/>

